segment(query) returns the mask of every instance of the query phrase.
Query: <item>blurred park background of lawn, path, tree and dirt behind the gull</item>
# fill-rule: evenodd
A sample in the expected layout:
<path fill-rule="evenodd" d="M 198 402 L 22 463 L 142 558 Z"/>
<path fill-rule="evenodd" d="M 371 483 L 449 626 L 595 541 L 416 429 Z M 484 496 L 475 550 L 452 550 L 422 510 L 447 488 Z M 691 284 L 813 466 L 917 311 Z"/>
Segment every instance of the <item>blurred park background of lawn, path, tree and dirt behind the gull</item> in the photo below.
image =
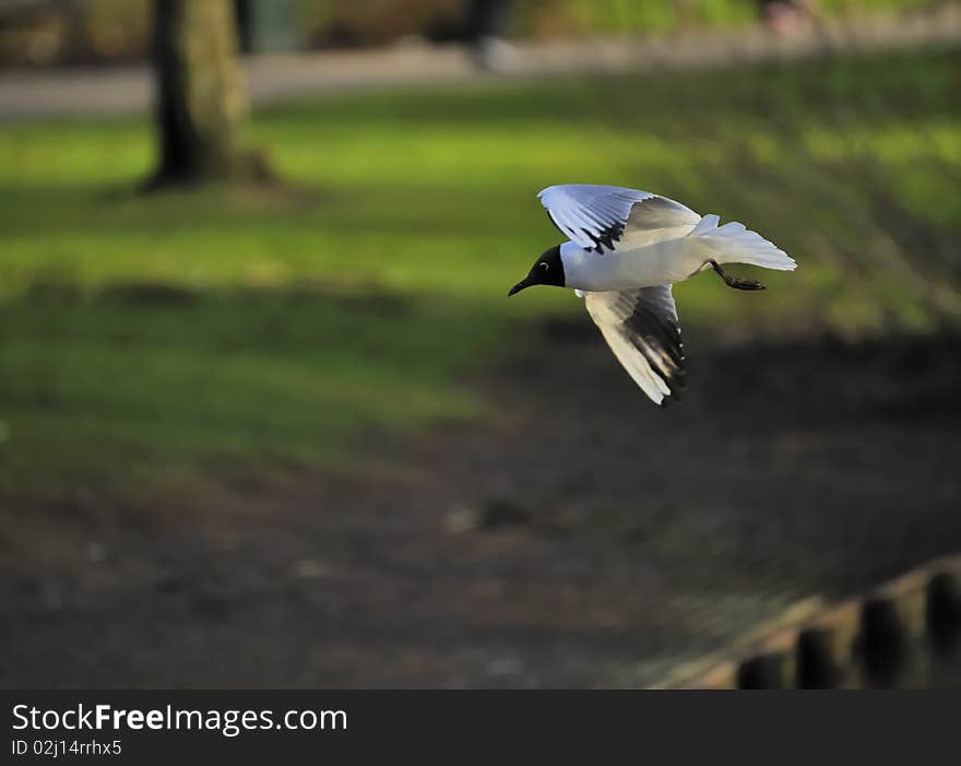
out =
<path fill-rule="evenodd" d="M 0 0 L 0 683 L 648 685 L 961 551 L 959 47 L 932 0 Z M 506 298 L 559 182 L 799 268 L 676 287 L 660 410 Z"/>

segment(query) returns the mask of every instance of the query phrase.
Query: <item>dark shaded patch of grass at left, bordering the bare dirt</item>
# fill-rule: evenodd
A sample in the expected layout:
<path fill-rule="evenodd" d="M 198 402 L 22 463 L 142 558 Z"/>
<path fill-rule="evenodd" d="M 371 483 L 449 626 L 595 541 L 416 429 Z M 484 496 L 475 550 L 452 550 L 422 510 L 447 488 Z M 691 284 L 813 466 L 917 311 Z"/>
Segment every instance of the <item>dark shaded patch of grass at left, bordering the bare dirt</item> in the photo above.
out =
<path fill-rule="evenodd" d="M 0 304 L 0 475 L 29 490 L 344 456 L 370 429 L 480 414 L 464 381 L 502 333 L 483 308 L 373 287 L 36 282 Z"/>

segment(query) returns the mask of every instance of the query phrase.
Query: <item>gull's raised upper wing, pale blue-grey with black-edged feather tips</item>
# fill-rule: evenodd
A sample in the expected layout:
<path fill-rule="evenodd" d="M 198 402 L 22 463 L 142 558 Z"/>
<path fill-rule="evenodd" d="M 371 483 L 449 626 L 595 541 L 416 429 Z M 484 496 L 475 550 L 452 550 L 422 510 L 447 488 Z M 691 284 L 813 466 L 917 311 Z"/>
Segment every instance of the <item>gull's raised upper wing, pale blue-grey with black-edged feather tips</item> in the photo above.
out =
<path fill-rule="evenodd" d="M 600 254 L 685 236 L 701 220 L 680 202 L 620 186 L 562 184 L 537 197 L 571 241 Z"/>

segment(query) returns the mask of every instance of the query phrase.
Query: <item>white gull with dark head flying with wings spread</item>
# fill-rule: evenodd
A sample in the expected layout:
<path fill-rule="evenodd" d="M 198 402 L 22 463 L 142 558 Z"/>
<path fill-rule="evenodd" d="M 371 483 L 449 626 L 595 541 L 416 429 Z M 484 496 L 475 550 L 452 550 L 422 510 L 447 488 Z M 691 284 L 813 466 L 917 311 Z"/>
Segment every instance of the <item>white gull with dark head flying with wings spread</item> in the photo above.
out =
<path fill-rule="evenodd" d="M 685 358 L 671 287 L 713 270 L 728 287 L 763 290 L 722 268 L 748 263 L 794 271 L 784 250 L 732 221 L 701 216 L 680 202 L 638 189 L 589 184 L 537 195 L 569 241 L 544 251 L 513 295 L 535 284 L 573 287 L 618 362 L 656 404 L 679 399 Z"/>

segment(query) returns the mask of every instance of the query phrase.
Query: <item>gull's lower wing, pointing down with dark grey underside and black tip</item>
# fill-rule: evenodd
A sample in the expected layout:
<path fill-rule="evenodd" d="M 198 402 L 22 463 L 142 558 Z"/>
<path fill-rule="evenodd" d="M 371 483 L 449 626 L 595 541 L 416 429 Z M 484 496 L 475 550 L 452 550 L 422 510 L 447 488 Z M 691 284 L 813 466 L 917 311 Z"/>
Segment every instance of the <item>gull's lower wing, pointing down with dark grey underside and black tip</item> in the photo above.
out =
<path fill-rule="evenodd" d="M 671 285 L 583 293 L 601 334 L 633 381 L 655 404 L 680 399 L 684 345 Z"/>

